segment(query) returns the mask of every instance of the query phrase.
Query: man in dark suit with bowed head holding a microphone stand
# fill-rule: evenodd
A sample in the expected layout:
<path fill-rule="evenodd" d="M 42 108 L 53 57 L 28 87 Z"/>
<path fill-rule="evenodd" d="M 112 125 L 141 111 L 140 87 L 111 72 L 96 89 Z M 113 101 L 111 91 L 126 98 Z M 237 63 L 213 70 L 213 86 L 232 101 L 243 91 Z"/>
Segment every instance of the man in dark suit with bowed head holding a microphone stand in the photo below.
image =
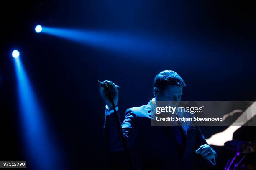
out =
<path fill-rule="evenodd" d="M 113 101 L 118 111 L 118 89 L 113 87 Z M 206 143 L 197 126 L 151 126 L 152 107 L 157 101 L 180 101 L 186 84 L 176 72 L 165 70 L 154 79 L 154 98 L 147 105 L 126 110 L 122 131 L 128 148 L 136 150 L 141 170 L 198 170 L 214 166 L 216 152 Z M 104 135 L 111 151 L 124 150 L 120 128 L 115 120 L 107 91 L 100 87 L 106 103 Z"/>

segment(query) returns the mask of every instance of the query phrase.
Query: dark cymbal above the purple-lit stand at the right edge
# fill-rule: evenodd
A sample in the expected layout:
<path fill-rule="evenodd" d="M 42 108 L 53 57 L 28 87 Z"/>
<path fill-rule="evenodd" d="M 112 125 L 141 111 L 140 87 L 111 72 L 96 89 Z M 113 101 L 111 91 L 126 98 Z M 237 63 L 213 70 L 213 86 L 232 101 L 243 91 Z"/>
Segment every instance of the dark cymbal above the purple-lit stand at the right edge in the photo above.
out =
<path fill-rule="evenodd" d="M 231 141 L 225 142 L 224 146 L 234 152 L 253 153 L 256 150 L 256 140 L 254 141 L 231 140 Z"/>

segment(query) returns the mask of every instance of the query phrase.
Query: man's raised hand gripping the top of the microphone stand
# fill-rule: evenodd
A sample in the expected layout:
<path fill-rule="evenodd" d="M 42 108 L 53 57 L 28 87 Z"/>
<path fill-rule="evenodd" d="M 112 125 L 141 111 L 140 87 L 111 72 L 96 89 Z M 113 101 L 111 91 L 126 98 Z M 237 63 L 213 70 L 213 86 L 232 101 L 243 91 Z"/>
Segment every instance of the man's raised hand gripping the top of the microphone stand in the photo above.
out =
<path fill-rule="evenodd" d="M 108 82 L 110 85 L 113 86 L 113 92 L 111 92 L 112 94 L 112 97 L 113 97 L 113 101 L 114 101 L 114 104 L 115 106 L 117 106 L 118 104 L 118 88 L 117 88 L 117 85 L 115 85 L 115 83 L 113 83 L 112 81 L 108 81 L 108 80 L 105 80 L 104 82 Z M 113 109 L 112 107 L 112 104 L 108 98 L 108 91 L 105 90 L 104 87 L 101 87 L 100 86 L 100 95 L 102 97 L 102 99 L 104 100 L 104 102 L 106 103 L 106 105 L 108 106 L 108 108 L 111 110 Z"/>

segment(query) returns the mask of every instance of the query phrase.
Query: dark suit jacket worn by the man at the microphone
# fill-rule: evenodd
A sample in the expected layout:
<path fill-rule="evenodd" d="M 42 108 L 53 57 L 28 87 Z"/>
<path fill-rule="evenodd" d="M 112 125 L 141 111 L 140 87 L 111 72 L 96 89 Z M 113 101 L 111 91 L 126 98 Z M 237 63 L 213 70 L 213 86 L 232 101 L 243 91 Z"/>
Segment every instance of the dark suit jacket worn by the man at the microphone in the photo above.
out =
<path fill-rule="evenodd" d="M 122 123 L 128 148 L 136 152 L 141 170 L 195 170 L 212 165 L 209 160 L 195 153 L 201 145 L 207 144 L 197 126 L 189 122 L 182 124 L 186 143 L 185 146 L 179 146 L 176 136 L 168 127 L 151 126 L 151 120 L 154 121 L 151 111 L 151 101 L 147 105 L 130 108 L 126 110 Z M 124 150 L 114 114 L 105 116 L 104 135 L 111 151 Z"/>

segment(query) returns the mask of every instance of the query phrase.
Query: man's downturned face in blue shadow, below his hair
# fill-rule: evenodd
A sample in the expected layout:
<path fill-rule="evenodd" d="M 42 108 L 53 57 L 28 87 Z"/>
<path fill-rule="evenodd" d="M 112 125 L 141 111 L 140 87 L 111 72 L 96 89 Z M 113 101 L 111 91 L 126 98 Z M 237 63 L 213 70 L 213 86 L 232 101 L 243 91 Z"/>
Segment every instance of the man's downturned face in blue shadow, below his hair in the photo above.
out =
<path fill-rule="evenodd" d="M 164 91 L 156 96 L 158 101 L 180 101 L 182 96 L 182 86 L 168 85 Z"/>

